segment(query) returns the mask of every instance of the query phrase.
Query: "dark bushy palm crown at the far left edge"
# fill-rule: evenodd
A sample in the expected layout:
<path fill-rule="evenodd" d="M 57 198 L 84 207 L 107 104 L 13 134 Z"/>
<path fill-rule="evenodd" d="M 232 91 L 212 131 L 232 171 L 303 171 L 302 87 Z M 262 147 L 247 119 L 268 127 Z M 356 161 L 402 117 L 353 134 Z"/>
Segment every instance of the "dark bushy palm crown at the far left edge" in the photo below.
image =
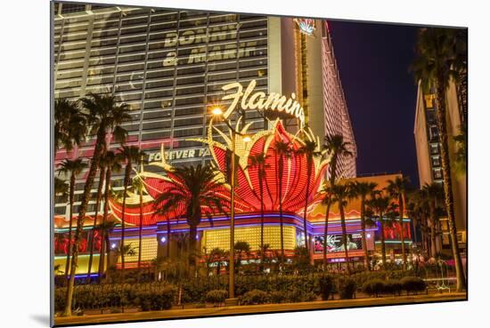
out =
<path fill-rule="evenodd" d="M 74 101 L 64 98 L 54 101 L 54 154 L 60 148 L 71 151 L 86 139 L 87 117 Z"/>

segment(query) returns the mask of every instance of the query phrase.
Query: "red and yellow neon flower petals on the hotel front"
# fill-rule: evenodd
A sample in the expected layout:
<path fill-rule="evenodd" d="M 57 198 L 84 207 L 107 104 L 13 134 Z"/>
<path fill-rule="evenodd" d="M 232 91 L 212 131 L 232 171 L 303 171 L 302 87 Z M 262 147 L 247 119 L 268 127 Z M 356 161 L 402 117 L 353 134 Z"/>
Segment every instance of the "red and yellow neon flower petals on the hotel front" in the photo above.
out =
<path fill-rule="evenodd" d="M 242 133 L 249 128 L 246 125 Z M 226 144 L 218 143 L 212 139 L 212 130 L 215 129 L 225 140 Z M 313 140 L 311 132 L 302 131 L 303 137 Z M 212 126 L 212 121 L 208 128 L 208 139 L 199 139 L 207 143 L 214 158 L 214 164 L 218 171 L 218 179 L 225 179 L 226 172 L 226 151 L 232 148 L 232 141 L 224 132 L 218 131 Z M 283 141 L 290 145 L 290 155 L 284 157 L 282 169 L 282 209 L 284 212 L 297 212 L 301 214 L 305 206 L 306 184 L 307 184 L 307 159 L 306 155 L 299 153 L 298 149 L 303 145 L 299 135 L 292 135 L 286 132 L 280 121 L 276 121 L 268 131 L 257 132 L 251 137 L 251 141 L 246 143 L 242 140 L 241 135 L 236 136 L 235 153 L 239 160 L 237 163 L 237 186 L 235 188 L 235 211 L 236 212 L 259 212 L 260 211 L 260 193 L 258 182 L 258 168 L 250 166 L 249 157 L 256 154 L 265 154 L 265 179 L 264 179 L 264 210 L 265 212 L 277 212 L 279 210 L 279 174 L 278 154 L 276 151 L 277 143 Z M 320 150 L 320 148 L 318 148 Z M 162 149 L 163 153 L 163 149 Z M 152 200 L 159 194 L 174 188 L 178 180 L 172 174 L 172 167 L 165 162 L 165 156 L 161 156 L 162 161 L 151 163 L 159 166 L 166 172 L 166 175 L 160 175 L 153 172 L 143 172 L 140 176 L 143 178 L 146 193 L 143 198 L 143 225 L 155 224 L 158 221 L 177 220 L 184 215 L 184 204 L 177 204 L 176 209 L 168 212 L 164 217 L 154 213 Z M 321 158 L 314 158 L 312 165 L 312 174 L 309 182 L 307 196 L 310 205 L 316 204 L 320 197 L 318 189 L 321 186 L 324 172 L 327 168 L 328 161 Z M 225 209 L 229 210 L 230 188 L 224 186 L 216 190 L 218 196 L 223 197 Z M 228 205 L 228 206 L 226 206 Z M 310 206 L 311 207 L 311 206 Z M 115 217 L 119 220 L 122 217 L 121 202 L 111 200 L 110 208 Z M 202 208 L 203 213 L 217 213 L 216 209 Z M 127 197 L 127 208 L 125 220 L 128 224 L 138 225 L 140 220 L 139 196 L 129 193 Z"/>

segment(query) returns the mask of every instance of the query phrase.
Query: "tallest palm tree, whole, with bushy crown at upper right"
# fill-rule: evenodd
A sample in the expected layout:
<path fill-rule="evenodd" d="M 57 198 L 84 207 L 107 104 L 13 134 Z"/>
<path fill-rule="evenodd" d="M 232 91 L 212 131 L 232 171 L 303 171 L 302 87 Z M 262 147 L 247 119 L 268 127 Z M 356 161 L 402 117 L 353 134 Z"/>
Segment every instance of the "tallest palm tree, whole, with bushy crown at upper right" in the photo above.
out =
<path fill-rule="evenodd" d="M 454 218 L 453 181 L 449 162 L 448 133 L 446 126 L 445 92 L 451 80 L 456 83 L 461 73 L 467 69 L 467 49 L 464 32 L 456 28 L 421 28 L 417 42 L 417 58 L 412 70 L 417 83 L 429 92 L 436 92 L 437 128 L 441 145 L 441 164 L 443 169 L 445 210 L 451 236 L 454 264 L 456 268 L 456 289 L 466 288 L 466 279 L 462 268 L 461 254 L 458 247 L 456 221 Z"/>

